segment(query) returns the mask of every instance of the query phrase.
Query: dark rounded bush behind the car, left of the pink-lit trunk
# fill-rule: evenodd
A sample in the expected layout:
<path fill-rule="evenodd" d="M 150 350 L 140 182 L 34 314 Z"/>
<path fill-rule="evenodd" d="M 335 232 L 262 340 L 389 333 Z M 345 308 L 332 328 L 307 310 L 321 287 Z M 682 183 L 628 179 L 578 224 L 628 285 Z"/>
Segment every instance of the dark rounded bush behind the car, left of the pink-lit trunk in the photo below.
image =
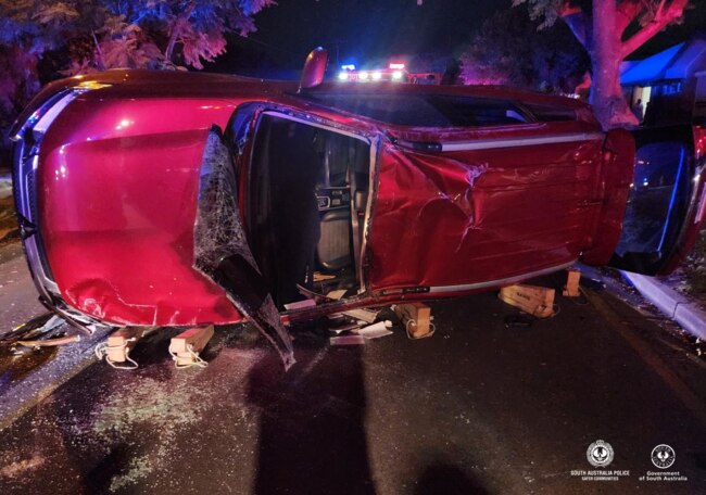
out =
<path fill-rule="evenodd" d="M 566 26 L 539 26 L 525 9 L 490 17 L 462 56 L 464 81 L 572 92 L 589 68 L 585 51 Z"/>

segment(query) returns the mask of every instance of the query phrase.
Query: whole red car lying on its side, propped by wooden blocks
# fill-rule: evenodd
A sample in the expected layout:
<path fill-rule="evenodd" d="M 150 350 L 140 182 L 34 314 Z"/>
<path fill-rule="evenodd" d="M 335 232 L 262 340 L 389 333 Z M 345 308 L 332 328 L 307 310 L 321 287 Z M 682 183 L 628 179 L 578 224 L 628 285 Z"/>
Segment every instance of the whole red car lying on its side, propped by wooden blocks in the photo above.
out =
<path fill-rule="evenodd" d="M 299 287 L 342 308 L 496 289 L 577 261 L 669 271 L 704 219 L 691 126 L 603 132 L 495 87 L 111 71 L 16 123 L 41 301 L 79 325 L 259 323 L 283 356 Z M 696 136 L 696 137 L 695 137 Z M 635 147 L 636 144 L 636 147 Z"/>

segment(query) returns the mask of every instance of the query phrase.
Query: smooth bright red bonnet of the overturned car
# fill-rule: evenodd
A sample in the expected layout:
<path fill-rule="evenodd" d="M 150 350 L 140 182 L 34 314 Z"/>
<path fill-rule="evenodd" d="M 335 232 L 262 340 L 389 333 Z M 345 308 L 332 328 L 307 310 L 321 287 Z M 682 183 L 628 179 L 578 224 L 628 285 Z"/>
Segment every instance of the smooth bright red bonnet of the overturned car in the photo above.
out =
<path fill-rule="evenodd" d="M 70 305 L 114 325 L 240 320 L 192 268 L 205 138 L 232 111 L 214 100 L 79 98 L 61 113 L 41 147 L 38 205 Z"/>

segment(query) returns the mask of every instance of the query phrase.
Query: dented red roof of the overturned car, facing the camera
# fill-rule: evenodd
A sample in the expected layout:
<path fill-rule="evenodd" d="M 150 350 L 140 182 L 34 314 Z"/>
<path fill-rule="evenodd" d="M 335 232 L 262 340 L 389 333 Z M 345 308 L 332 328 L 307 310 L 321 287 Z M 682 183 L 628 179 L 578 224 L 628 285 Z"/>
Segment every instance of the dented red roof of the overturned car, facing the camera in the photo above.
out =
<path fill-rule="evenodd" d="M 368 245 L 373 291 L 463 290 L 573 262 L 598 213 L 602 144 L 602 135 L 446 153 L 383 143 Z"/>

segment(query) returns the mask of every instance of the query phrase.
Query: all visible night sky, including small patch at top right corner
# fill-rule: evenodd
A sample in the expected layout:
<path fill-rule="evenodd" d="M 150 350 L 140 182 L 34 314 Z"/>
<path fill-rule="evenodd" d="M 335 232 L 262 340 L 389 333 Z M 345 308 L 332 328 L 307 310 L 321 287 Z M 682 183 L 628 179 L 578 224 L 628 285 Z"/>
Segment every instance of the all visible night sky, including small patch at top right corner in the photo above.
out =
<path fill-rule="evenodd" d="M 706 0 L 682 26 L 658 35 L 632 58 L 642 59 L 706 30 Z M 228 53 L 212 71 L 272 75 L 298 69 L 315 47 L 329 50 L 331 64 L 387 64 L 412 56 L 442 60 L 457 56 L 482 22 L 509 9 L 510 0 L 279 0 L 255 16 L 257 31 L 231 36 Z"/>

